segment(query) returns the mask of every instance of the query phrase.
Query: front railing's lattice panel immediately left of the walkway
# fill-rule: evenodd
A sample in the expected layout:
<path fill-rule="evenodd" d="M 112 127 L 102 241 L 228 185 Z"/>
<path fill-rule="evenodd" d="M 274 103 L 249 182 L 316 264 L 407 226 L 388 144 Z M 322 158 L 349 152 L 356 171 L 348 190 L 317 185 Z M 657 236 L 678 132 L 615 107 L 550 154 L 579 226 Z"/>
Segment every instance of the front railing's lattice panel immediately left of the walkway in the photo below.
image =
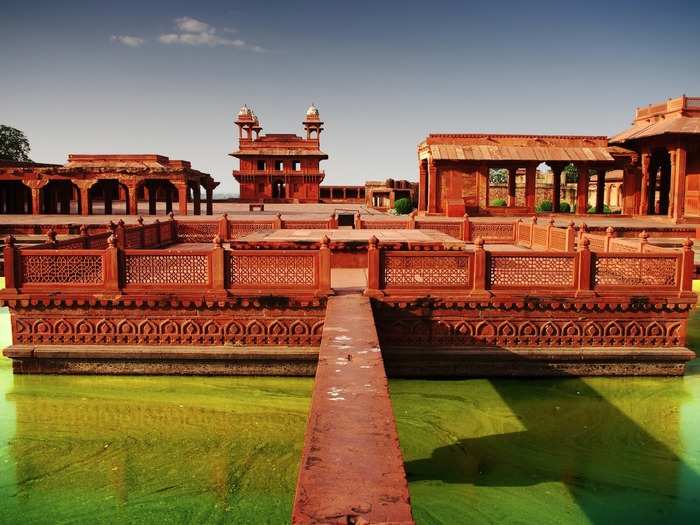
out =
<path fill-rule="evenodd" d="M 246 255 L 230 252 L 231 287 L 314 286 L 314 255 Z"/>

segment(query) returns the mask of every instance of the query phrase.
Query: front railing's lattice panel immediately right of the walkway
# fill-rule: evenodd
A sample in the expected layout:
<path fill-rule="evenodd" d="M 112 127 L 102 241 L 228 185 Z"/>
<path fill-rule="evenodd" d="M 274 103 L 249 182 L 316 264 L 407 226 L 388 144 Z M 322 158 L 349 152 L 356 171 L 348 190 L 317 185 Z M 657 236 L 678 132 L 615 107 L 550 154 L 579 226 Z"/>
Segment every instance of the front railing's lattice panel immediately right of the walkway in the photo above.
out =
<path fill-rule="evenodd" d="M 468 255 L 384 254 L 382 279 L 385 287 L 468 287 Z"/>

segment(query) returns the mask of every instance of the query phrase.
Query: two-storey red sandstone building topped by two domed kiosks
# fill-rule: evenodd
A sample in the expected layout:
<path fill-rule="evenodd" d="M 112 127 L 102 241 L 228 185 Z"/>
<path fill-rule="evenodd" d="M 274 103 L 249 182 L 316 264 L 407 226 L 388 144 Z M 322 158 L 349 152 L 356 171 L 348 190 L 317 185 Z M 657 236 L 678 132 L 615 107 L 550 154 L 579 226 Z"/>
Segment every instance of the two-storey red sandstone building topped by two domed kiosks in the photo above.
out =
<path fill-rule="evenodd" d="M 261 135 L 262 126 L 247 106 L 238 112 L 240 160 L 233 176 L 240 184 L 240 200 L 248 202 L 318 202 L 325 177 L 320 162 L 328 158 L 320 149 L 323 122 L 313 104 L 303 121 L 306 138 L 293 133 Z"/>

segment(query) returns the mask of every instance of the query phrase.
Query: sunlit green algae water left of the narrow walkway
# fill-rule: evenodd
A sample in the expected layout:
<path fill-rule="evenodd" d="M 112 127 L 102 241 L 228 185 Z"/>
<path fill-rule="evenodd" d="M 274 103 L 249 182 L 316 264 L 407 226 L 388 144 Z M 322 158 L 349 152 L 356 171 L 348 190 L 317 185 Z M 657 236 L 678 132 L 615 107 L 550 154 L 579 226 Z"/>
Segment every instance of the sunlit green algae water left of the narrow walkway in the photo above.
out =
<path fill-rule="evenodd" d="M 312 386 L 13 377 L 0 358 L 0 523 L 288 523 Z"/>

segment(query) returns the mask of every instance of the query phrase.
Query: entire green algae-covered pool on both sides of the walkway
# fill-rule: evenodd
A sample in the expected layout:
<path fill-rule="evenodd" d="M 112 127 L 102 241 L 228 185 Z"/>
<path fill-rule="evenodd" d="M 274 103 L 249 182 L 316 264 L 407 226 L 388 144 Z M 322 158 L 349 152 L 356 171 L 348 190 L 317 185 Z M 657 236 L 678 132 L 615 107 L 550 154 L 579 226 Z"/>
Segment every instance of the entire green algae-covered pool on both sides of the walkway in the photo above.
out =
<path fill-rule="evenodd" d="M 312 386 L 13 376 L 0 358 L 0 522 L 288 523 Z M 700 360 L 390 387 L 419 524 L 698 522 Z"/>

